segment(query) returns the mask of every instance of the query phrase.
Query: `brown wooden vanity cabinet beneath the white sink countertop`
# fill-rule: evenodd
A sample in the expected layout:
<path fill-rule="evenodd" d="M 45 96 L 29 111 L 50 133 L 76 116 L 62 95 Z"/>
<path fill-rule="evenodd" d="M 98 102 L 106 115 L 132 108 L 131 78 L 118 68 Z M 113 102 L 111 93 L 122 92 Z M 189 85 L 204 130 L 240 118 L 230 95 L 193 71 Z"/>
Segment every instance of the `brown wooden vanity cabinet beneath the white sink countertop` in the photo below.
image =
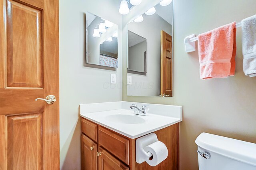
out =
<path fill-rule="evenodd" d="M 168 157 L 157 166 L 136 163 L 136 139 L 128 138 L 81 118 L 82 170 L 178 170 L 179 124 L 154 132 L 168 148 Z"/>

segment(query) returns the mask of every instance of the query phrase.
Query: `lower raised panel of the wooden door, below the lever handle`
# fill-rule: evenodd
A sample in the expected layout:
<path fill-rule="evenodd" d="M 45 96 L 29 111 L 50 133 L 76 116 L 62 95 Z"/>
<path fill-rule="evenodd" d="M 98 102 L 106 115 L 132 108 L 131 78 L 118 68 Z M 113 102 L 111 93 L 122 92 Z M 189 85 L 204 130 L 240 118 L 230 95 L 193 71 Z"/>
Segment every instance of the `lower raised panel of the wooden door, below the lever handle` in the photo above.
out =
<path fill-rule="evenodd" d="M 7 116 L 8 170 L 42 170 L 42 114 Z"/>

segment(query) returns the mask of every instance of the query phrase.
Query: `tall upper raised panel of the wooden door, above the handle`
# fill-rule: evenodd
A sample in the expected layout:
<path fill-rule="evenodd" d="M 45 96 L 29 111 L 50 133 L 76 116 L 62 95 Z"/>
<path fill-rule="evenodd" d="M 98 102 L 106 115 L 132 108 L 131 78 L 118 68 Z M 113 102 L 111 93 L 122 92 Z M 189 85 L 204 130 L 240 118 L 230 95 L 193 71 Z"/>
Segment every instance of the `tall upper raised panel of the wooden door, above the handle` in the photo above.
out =
<path fill-rule="evenodd" d="M 42 88 L 42 10 L 12 0 L 6 8 L 7 87 Z"/>

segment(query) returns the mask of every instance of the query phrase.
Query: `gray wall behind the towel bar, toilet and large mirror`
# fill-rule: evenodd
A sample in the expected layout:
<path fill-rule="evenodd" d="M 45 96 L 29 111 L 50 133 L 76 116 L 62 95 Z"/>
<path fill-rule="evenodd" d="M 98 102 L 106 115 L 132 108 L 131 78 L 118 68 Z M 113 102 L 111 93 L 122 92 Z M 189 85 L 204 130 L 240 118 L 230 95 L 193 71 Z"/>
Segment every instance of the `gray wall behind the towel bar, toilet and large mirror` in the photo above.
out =
<path fill-rule="evenodd" d="M 184 38 L 256 14 L 256 1 L 174 0 L 173 3 L 174 97 L 131 97 L 123 88 L 123 100 L 183 106 L 180 170 L 198 170 L 195 140 L 202 132 L 256 143 L 256 78 L 245 76 L 242 69 L 241 28 L 236 34 L 236 74 L 229 78 L 200 80 L 198 51 L 187 54 Z M 123 39 L 123 48 L 125 42 Z M 125 84 L 124 54 L 123 50 Z"/>

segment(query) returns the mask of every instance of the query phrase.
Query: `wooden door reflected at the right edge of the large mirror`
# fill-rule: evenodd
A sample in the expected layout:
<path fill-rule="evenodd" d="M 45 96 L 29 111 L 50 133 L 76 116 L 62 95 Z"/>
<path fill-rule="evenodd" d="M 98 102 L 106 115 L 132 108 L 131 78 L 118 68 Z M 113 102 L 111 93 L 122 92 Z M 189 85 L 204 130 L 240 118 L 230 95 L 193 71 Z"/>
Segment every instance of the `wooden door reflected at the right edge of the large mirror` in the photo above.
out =
<path fill-rule="evenodd" d="M 172 36 L 161 31 L 161 96 L 172 96 Z"/>

